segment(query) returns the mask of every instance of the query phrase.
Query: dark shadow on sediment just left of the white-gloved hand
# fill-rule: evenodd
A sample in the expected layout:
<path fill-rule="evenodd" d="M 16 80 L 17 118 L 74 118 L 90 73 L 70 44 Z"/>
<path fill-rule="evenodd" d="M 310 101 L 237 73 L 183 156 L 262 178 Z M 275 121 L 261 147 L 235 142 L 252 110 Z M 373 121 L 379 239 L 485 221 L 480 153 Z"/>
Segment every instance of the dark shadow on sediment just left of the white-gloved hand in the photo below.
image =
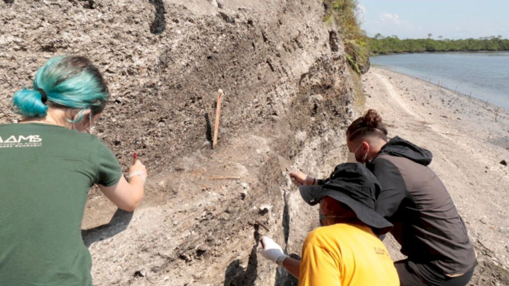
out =
<path fill-rule="evenodd" d="M 256 241 L 256 244 L 253 245 L 251 253 L 249 253 L 246 270 L 240 266 L 241 261 L 238 259 L 230 263 L 224 272 L 223 286 L 254 286 L 254 281 L 258 276 L 257 249 L 260 243 L 258 227 L 258 225 L 254 225 L 254 241 Z"/>

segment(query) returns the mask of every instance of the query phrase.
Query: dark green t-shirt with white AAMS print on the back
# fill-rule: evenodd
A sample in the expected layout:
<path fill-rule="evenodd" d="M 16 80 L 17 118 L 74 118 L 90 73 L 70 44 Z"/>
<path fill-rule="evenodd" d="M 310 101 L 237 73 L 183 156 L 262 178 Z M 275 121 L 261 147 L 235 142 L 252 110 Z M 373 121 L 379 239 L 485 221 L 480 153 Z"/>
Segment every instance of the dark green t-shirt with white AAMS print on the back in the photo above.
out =
<path fill-rule="evenodd" d="M 115 155 L 87 133 L 5 124 L 0 161 L 0 285 L 91 285 L 81 220 L 90 188 L 119 182 Z"/>

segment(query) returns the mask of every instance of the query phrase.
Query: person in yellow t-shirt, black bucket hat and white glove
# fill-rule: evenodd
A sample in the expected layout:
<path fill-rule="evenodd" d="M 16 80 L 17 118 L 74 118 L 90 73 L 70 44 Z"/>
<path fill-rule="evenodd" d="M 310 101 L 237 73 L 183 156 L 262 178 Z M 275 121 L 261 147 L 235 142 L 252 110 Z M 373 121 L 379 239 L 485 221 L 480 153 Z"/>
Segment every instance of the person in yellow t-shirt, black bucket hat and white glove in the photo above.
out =
<path fill-rule="evenodd" d="M 299 286 L 400 284 L 387 248 L 377 237 L 392 224 L 374 210 L 380 184 L 368 169 L 344 163 L 321 185 L 298 185 L 307 204 L 320 204 L 322 226 L 307 236 L 302 260 L 290 258 L 269 237 L 262 238 L 259 249 L 264 258 L 299 278 Z"/>

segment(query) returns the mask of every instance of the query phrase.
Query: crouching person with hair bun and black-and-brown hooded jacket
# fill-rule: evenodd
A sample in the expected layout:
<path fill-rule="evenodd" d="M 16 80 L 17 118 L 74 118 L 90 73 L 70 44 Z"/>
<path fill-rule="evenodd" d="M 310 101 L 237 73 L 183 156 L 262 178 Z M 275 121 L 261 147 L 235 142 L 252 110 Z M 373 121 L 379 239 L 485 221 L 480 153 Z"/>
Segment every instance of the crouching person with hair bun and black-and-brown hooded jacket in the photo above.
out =
<path fill-rule="evenodd" d="M 466 285 L 475 267 L 467 229 L 444 184 L 428 167 L 433 155 L 398 136 L 388 140 L 370 109 L 347 129 L 347 145 L 382 190 L 375 209 L 407 259 L 395 262 L 401 285 Z"/>

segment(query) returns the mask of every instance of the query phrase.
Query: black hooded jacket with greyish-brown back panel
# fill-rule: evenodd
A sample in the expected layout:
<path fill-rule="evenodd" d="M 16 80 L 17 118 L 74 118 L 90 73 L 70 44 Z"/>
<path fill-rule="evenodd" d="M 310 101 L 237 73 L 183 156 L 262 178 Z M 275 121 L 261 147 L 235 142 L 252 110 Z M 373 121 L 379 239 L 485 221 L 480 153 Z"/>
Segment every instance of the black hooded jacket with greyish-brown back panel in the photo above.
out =
<path fill-rule="evenodd" d="M 465 273 L 475 254 L 447 189 L 427 167 L 429 150 L 394 137 L 366 163 L 382 186 L 375 209 L 394 224 L 391 234 L 415 263 L 443 274 Z"/>

